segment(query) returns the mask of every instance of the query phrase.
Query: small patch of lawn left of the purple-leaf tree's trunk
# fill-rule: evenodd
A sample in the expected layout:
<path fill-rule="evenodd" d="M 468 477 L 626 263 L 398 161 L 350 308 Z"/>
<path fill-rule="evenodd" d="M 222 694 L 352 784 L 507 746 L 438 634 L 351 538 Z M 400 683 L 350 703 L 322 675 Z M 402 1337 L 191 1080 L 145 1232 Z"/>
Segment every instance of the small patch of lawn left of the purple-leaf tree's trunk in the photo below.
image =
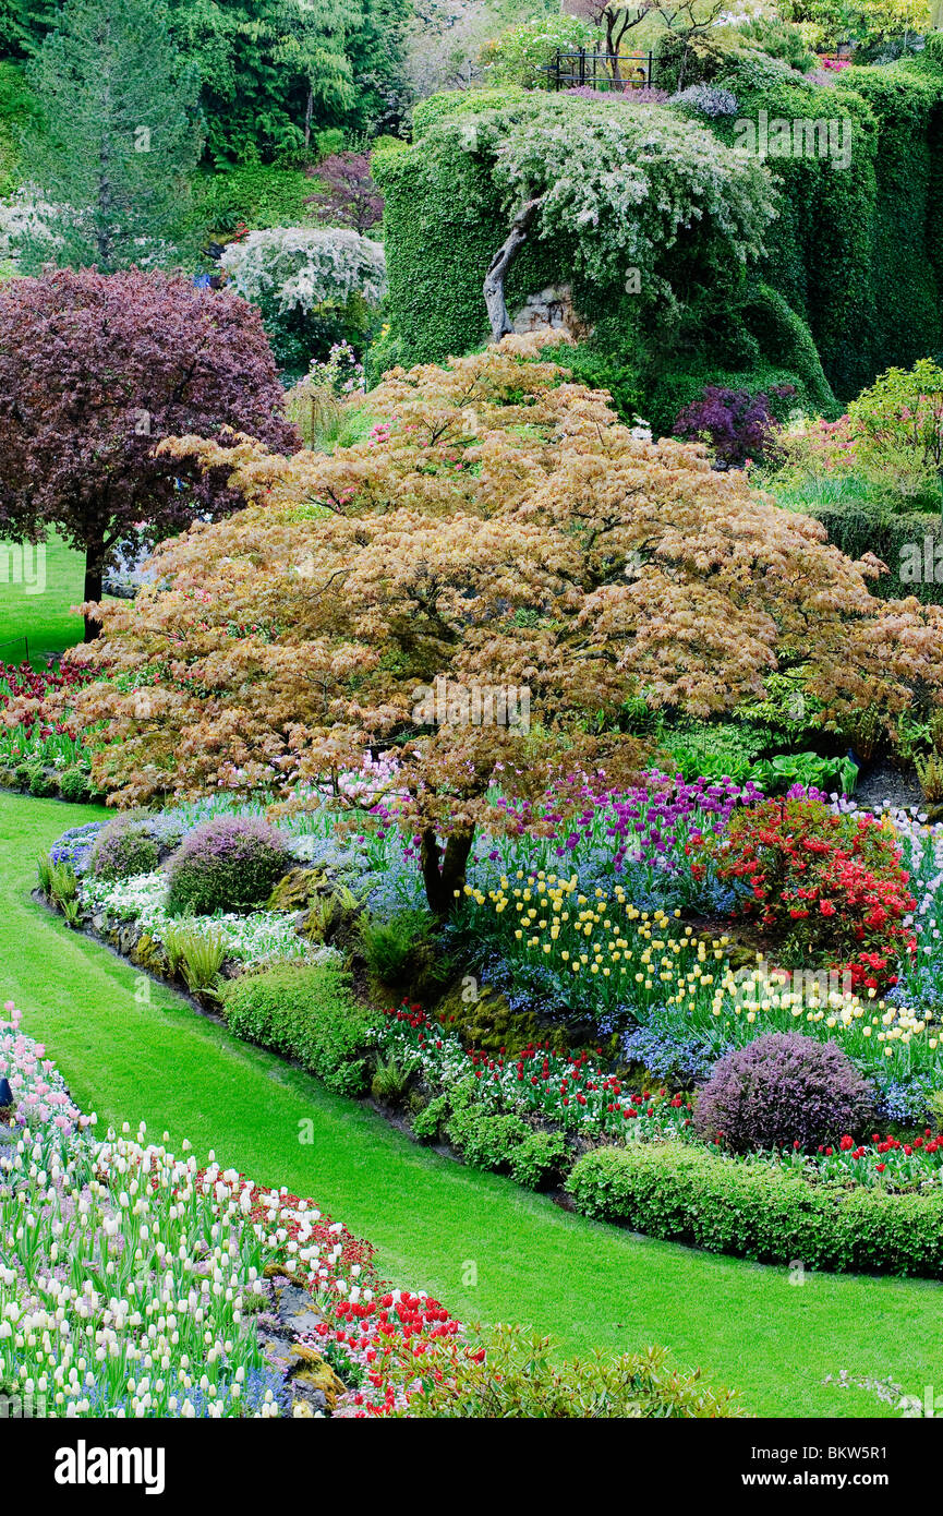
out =
<path fill-rule="evenodd" d="M 33 558 L 29 546 L 26 559 L 11 547 L 12 556 L 5 556 L 0 546 L 0 662 L 23 661 L 24 637 L 33 662 L 82 640 L 82 617 L 70 605 L 82 605 L 83 556 L 59 537 L 50 537 L 44 549 L 45 561 Z"/>

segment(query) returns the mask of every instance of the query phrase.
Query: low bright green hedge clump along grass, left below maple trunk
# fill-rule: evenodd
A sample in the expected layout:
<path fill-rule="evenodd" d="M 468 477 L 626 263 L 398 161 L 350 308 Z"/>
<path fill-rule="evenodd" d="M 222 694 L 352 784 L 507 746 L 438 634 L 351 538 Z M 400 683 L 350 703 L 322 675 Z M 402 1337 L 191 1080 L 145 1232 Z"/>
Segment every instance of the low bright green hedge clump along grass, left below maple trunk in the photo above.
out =
<path fill-rule="evenodd" d="M 296 1058 L 337 1095 L 361 1095 L 367 1085 L 374 1017 L 356 1004 L 337 964 L 276 964 L 241 975 L 223 991 L 223 1016 L 237 1037 Z"/>

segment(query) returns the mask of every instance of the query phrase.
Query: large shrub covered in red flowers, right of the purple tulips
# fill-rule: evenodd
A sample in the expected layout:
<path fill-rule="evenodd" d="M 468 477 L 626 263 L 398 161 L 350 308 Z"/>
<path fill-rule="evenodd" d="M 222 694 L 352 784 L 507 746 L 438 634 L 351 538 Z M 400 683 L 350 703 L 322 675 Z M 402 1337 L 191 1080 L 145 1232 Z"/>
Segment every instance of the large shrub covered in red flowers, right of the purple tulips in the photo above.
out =
<path fill-rule="evenodd" d="M 916 951 L 916 908 L 901 847 L 873 816 L 834 814 L 822 800 L 763 800 L 731 817 L 726 835 L 688 844 L 696 878 L 740 882 L 737 914 L 778 940 L 784 964 L 851 972 L 852 988 L 898 982 Z"/>

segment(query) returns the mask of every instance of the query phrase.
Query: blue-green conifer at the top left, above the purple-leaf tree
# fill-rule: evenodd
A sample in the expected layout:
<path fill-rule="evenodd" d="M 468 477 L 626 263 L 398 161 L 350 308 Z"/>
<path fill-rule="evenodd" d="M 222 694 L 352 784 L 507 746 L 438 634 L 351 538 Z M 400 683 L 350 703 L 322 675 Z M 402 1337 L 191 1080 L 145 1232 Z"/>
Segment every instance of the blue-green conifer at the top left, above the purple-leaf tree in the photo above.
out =
<path fill-rule="evenodd" d="M 42 121 L 27 135 L 23 173 L 55 209 L 52 236 L 21 243 L 21 267 L 109 273 L 179 259 L 200 83 L 162 0 L 67 0 L 29 80 Z"/>

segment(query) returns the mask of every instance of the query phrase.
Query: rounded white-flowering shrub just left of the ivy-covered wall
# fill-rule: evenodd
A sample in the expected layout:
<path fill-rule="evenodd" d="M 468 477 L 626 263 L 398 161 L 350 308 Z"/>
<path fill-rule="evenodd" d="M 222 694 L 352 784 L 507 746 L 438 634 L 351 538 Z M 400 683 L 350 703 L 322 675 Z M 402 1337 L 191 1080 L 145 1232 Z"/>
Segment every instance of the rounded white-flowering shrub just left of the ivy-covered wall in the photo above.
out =
<path fill-rule="evenodd" d="M 378 305 L 387 293 L 381 243 L 344 227 L 274 226 L 232 243 L 220 259 L 237 294 L 279 312 L 346 305 L 359 294 Z"/>

